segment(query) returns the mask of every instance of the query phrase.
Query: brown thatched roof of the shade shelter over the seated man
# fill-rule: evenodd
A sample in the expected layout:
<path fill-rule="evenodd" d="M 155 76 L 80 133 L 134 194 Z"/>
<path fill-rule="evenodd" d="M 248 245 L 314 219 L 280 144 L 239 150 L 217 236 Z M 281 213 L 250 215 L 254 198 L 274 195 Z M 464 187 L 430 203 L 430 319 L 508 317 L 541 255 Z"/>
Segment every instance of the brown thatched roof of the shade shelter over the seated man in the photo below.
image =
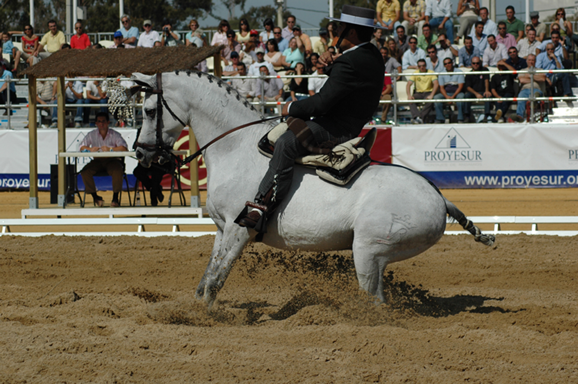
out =
<path fill-rule="evenodd" d="M 193 69 L 221 47 L 155 47 L 135 49 L 65 49 L 51 54 L 21 74 L 43 77 L 131 76 Z"/>

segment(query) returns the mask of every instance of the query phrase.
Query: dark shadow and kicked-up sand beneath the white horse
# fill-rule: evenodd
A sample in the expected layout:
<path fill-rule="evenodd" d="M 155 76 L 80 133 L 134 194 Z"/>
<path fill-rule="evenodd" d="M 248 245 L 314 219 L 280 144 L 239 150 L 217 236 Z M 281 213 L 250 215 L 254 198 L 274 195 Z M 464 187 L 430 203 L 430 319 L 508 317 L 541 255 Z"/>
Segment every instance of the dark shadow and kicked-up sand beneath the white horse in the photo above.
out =
<path fill-rule="evenodd" d="M 256 252 L 255 252 L 256 253 Z M 257 255 L 254 255 L 257 256 Z M 295 255 L 294 255 L 295 256 Z M 314 253 L 310 255 L 299 255 L 296 263 L 294 258 L 287 258 L 286 255 L 275 255 L 271 252 L 268 255 L 258 255 L 255 260 L 255 266 L 263 266 L 263 263 L 275 264 L 276 267 L 303 273 L 305 267 L 308 272 L 321 275 L 323 280 L 331 285 L 335 283 L 335 277 L 339 279 L 355 279 L 355 269 L 353 260 L 346 255 L 335 255 L 331 253 Z M 266 261 L 265 261 L 266 260 Z M 273 260 L 273 262 L 272 262 Z M 251 266 L 248 266 L 251 269 Z M 355 283 L 356 284 L 356 283 Z M 384 276 L 384 293 L 388 310 L 413 311 L 417 315 L 428 316 L 432 318 L 443 318 L 451 315 L 457 315 L 461 312 L 472 314 L 490 314 L 499 312 L 502 314 L 509 312 L 518 312 L 520 310 L 507 310 L 497 305 L 484 305 L 486 301 L 502 301 L 503 297 L 488 297 L 481 295 L 457 294 L 450 297 L 436 296 L 421 285 L 415 286 L 395 278 L 393 271 L 388 271 Z M 358 301 L 357 305 L 360 310 L 372 310 L 377 307 L 375 298 L 364 296 L 364 294 L 354 295 L 353 300 Z M 350 296 L 351 299 L 351 296 Z M 351 301 L 351 300 L 350 300 Z M 312 305 L 321 305 L 332 308 L 338 312 L 343 312 L 343 307 L 351 305 L 344 303 L 340 295 L 327 294 L 317 289 L 304 288 L 299 290 L 291 297 L 287 303 L 280 308 L 276 305 L 260 302 L 228 303 L 233 308 L 246 310 L 247 324 L 259 323 L 262 321 L 262 315 L 268 314 L 271 320 L 284 320 L 297 314 L 303 308 Z M 279 308 L 279 310 L 277 310 Z"/>

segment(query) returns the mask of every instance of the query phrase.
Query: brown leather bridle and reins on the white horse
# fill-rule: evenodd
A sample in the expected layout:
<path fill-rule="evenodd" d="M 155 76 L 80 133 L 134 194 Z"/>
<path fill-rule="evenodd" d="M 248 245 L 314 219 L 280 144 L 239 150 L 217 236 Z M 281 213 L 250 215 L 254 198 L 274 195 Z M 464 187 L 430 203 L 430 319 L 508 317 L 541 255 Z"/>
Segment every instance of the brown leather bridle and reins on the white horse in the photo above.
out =
<path fill-rule="evenodd" d="M 176 162 L 179 163 L 179 166 L 183 166 L 186 163 L 191 162 L 192 160 L 197 158 L 198 155 L 202 154 L 202 152 L 204 150 L 206 150 L 206 148 L 209 147 L 211 144 L 215 143 L 216 141 L 218 141 L 220 139 L 223 139 L 223 137 L 225 137 L 225 136 L 227 136 L 227 135 L 229 135 L 235 131 L 239 131 L 239 129 L 246 128 L 247 126 L 251 126 L 251 125 L 255 125 L 255 124 L 260 124 L 261 122 L 270 121 L 270 120 L 277 120 L 277 119 L 281 118 L 281 116 L 267 117 L 267 118 L 262 118 L 261 120 L 251 121 L 251 122 L 248 122 L 246 124 L 236 126 L 235 128 L 229 129 L 229 131 L 227 131 L 227 132 L 223 133 L 222 135 L 219 135 L 219 136 L 215 137 L 213 140 L 209 141 L 209 143 L 205 144 L 205 146 L 203 146 L 201 149 L 199 149 L 194 154 L 187 156 L 187 158 L 181 160 L 179 158 L 179 156 L 176 156 L 175 154 L 173 154 L 172 146 L 165 144 L 164 141 L 162 140 L 162 128 L 163 128 L 162 106 L 163 105 L 165 106 L 166 110 L 169 111 L 169 113 L 172 115 L 172 117 L 175 118 L 175 120 L 179 121 L 180 124 L 183 125 L 183 127 L 187 126 L 187 124 L 185 122 L 183 122 L 182 120 L 180 120 L 180 118 L 171 110 L 171 108 L 169 107 L 168 103 L 166 102 L 164 96 L 162 95 L 162 74 L 157 73 L 157 88 L 155 88 L 154 90 L 152 88 L 146 88 L 146 87 L 132 87 L 130 92 L 131 92 L 131 94 L 135 94 L 136 92 L 139 92 L 140 90 L 143 90 L 147 94 L 157 95 L 157 129 L 156 129 L 157 137 L 156 137 L 155 144 L 139 143 L 139 141 L 136 141 L 135 147 L 143 148 L 143 150 L 146 150 L 146 151 L 151 151 L 151 152 L 155 151 L 155 154 L 160 153 L 160 154 L 172 156 L 173 158 L 176 159 Z"/>

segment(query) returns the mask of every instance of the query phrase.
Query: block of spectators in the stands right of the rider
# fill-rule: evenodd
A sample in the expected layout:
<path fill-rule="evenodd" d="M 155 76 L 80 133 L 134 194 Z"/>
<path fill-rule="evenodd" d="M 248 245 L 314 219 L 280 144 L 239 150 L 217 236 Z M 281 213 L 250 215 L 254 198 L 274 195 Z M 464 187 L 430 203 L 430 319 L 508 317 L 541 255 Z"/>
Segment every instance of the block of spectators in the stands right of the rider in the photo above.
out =
<path fill-rule="evenodd" d="M 516 18 L 513 6 L 506 7 L 506 20 L 495 21 L 488 17 L 488 9 L 480 8 L 478 0 L 460 0 L 455 16 L 460 17 L 460 28 L 455 36 L 455 43 L 462 39 L 463 46 L 458 47 L 453 40 L 453 24 L 451 23 L 451 6 L 444 0 L 406 1 L 404 5 L 403 21 L 406 24 L 395 25 L 397 36 L 387 39 L 377 32 L 372 43 L 380 47 L 386 73 L 397 69 L 395 63 L 401 62 L 402 70 L 415 72 L 450 73 L 432 76 L 410 76 L 407 83 L 407 95 L 411 99 L 424 99 L 429 96 L 433 99 L 463 99 L 463 98 L 513 98 L 530 95 L 529 75 L 517 76 L 512 74 L 494 74 L 492 70 L 524 70 L 529 67 L 536 69 L 571 69 L 572 61 L 568 51 L 572 50 L 573 43 L 578 43 L 578 35 L 573 34 L 572 24 L 565 18 L 564 9 L 558 9 L 556 20 L 551 23 L 549 31 L 544 23 L 540 23 L 538 12 L 530 14 L 532 22 L 524 25 Z M 377 12 L 381 18 L 377 21 L 390 28 L 391 23 L 398 21 L 387 14 L 395 10 L 396 0 L 381 0 Z M 407 5 L 407 14 L 405 12 Z M 398 7 L 397 7 L 398 8 Z M 423 14 L 421 14 L 423 10 Z M 413 13 L 410 13 L 413 12 Z M 419 15 L 419 16 L 418 16 Z M 423 16 L 423 18 L 421 18 Z M 433 23 L 432 23 L 433 20 Z M 416 31 L 417 21 L 423 21 L 421 34 Z M 417 36 L 409 36 L 406 40 L 406 28 L 412 28 Z M 386 32 L 388 32 L 386 29 Z M 445 29 L 445 31 L 444 31 Z M 391 33 L 392 35 L 392 33 Z M 550 35 L 548 39 L 547 35 Z M 384 39 L 385 38 L 385 39 Z M 396 39 L 397 38 L 397 39 Z M 406 46 L 404 43 L 407 42 Z M 390 46 L 391 44 L 391 46 Z M 408 48 L 409 47 L 409 48 Z M 459 67 L 457 66 L 458 59 Z M 529 59 L 529 61 L 528 61 Z M 488 74 L 460 73 L 488 72 Z M 398 70 L 398 72 L 400 72 Z M 543 96 L 547 89 L 553 96 L 573 96 L 570 87 L 571 80 L 568 73 L 535 74 L 535 90 L 533 96 Z M 399 78 L 398 78 L 399 80 Z M 410 88 L 415 88 L 414 93 Z M 518 89 L 520 93 L 517 94 Z M 458 112 L 458 122 L 472 121 L 471 103 L 454 102 Z M 479 121 L 492 119 L 494 122 L 523 121 L 527 116 L 527 102 L 518 102 L 517 111 L 506 116 L 512 102 L 484 102 L 484 113 L 480 114 Z M 444 104 L 435 103 L 435 121 L 443 123 Z M 571 102 L 568 102 L 572 106 Z M 490 110 L 495 106 L 495 115 Z M 419 111 L 417 106 L 410 104 L 412 122 L 420 123 L 432 109 L 431 103 Z M 382 116 L 382 120 L 384 120 Z"/>

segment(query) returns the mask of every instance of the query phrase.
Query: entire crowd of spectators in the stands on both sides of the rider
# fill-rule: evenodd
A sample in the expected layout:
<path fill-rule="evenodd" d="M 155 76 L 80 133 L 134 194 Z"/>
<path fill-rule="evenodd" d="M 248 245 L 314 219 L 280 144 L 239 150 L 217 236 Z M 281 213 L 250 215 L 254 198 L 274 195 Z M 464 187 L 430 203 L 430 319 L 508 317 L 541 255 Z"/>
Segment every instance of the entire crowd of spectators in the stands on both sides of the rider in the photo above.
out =
<path fill-rule="evenodd" d="M 548 28 L 540 23 L 538 12 L 530 14 L 531 23 L 524 25 L 516 18 L 513 6 L 505 9 L 506 20 L 495 21 L 489 18 L 488 9 L 480 8 L 479 0 L 460 0 L 457 12 L 451 10 L 450 0 L 407 0 L 400 7 L 399 0 L 379 0 L 376 6 L 377 23 L 386 27 L 376 29 L 370 43 L 380 49 L 384 60 L 384 70 L 398 73 L 407 70 L 414 72 L 450 73 L 447 75 L 408 76 L 407 95 L 410 99 L 461 99 L 461 98 L 508 98 L 516 96 L 521 88 L 519 97 L 529 95 L 528 76 L 495 75 L 468 75 L 468 70 L 486 71 L 487 68 L 499 70 L 522 70 L 530 63 L 536 69 L 568 69 L 572 68 L 568 51 L 573 44 L 578 43 L 578 35 L 572 30 L 572 24 L 566 20 L 563 8 L 556 11 L 555 21 Z M 460 28 L 454 39 L 453 17 L 459 17 Z M 199 29 L 197 20 L 188 24 L 190 31 L 184 37 L 184 42 L 173 31 L 172 24 L 165 22 L 161 31 L 155 31 L 151 20 L 144 20 L 143 32 L 132 26 L 128 15 L 121 17 L 123 27 L 113 35 L 113 44 L 109 49 L 150 48 L 155 46 L 207 46 L 208 38 Z M 40 60 L 60 49 L 99 49 L 100 44 L 92 44 L 88 35 L 83 31 L 82 23 L 75 24 L 75 34 L 66 42 L 64 33 L 58 30 L 54 20 L 48 23 L 49 32 L 43 36 L 36 36 L 34 28 L 26 25 L 24 31 L 9 31 L 2 33 L 3 53 L 10 55 L 13 67 L 4 63 L 2 79 L 12 77 L 18 71 L 20 58 L 35 65 Z M 318 64 L 318 57 L 326 51 L 335 51 L 336 25 L 330 22 L 327 28 L 318 31 L 318 38 L 312 44 L 309 35 L 302 32 L 295 16 L 288 16 L 286 25 L 281 28 L 266 18 L 262 32 L 251 29 L 249 21 L 242 18 L 239 21 L 238 31 L 231 28 L 227 20 L 221 20 L 217 31 L 213 33 L 210 45 L 224 45 L 221 51 L 224 76 L 277 76 L 277 74 L 295 74 L 292 79 L 231 79 L 229 82 L 249 100 L 299 100 L 318 92 L 325 77 L 324 66 Z M 22 48 L 18 50 L 11 42 L 13 33 L 23 34 Z M 463 42 L 458 47 L 457 43 Z M 529 59 L 529 60 L 528 60 Z M 457 62 L 456 62 L 457 60 Z M 459 64 L 458 64 L 459 63 Z M 459 67 L 458 67 L 459 65 Z M 460 69 L 461 68 L 461 69 Z M 198 65 L 199 70 L 206 70 L 206 62 Z M 313 75 L 307 78 L 299 75 Z M 497 76 L 497 77 L 496 77 Z M 495 79 L 494 79 L 495 77 Z M 572 96 L 570 79 L 566 73 L 549 73 L 544 76 L 535 76 L 536 84 L 543 85 L 534 96 L 543 95 L 546 85 L 552 88 L 555 96 Z M 397 80 L 402 80 L 401 76 Z M 541 83 L 540 83 L 541 82 Z M 79 84 L 77 84 L 79 83 Z M 0 83 L 2 84 L 2 83 Z M 415 91 L 411 92 L 411 87 Z M 39 87 L 38 100 L 41 103 L 54 103 L 54 89 L 52 84 L 42 84 Z M 79 92 L 80 87 L 86 87 L 87 92 Z M 4 83 L 0 88 L 2 98 L 6 100 L 8 87 Z M 12 87 L 11 87 L 12 88 Z M 86 85 L 80 82 L 67 83 L 67 103 L 106 103 L 106 90 L 102 89 L 98 81 L 89 81 Z M 391 77 L 386 76 L 381 98 L 390 100 L 392 94 Z M 524 94 L 525 96 L 521 96 Z M 49 97 L 50 96 L 50 97 Z M 431 97 L 430 97 L 431 96 Z M 455 102 L 458 110 L 458 121 L 471 120 L 471 103 Z M 495 105 L 494 121 L 504 121 L 509 102 L 484 102 L 484 114 L 480 121 L 486 121 L 490 110 Z M 381 118 L 387 119 L 390 110 L 389 104 L 384 106 Z M 434 104 L 426 103 L 425 107 L 417 110 L 411 104 L 413 122 L 421 122 L 433 109 Z M 435 103 L 438 122 L 444 121 L 444 103 Z M 517 113 L 511 120 L 520 121 L 525 115 L 525 103 L 518 103 Z M 53 109 L 55 110 L 55 109 Z M 87 123 L 86 110 L 79 107 L 75 115 L 75 125 Z M 106 108 L 102 107 L 105 111 Z M 425 113 L 425 114 L 424 114 Z M 55 112 L 53 113 L 55 116 Z M 53 124 L 54 125 L 54 124 Z"/>

